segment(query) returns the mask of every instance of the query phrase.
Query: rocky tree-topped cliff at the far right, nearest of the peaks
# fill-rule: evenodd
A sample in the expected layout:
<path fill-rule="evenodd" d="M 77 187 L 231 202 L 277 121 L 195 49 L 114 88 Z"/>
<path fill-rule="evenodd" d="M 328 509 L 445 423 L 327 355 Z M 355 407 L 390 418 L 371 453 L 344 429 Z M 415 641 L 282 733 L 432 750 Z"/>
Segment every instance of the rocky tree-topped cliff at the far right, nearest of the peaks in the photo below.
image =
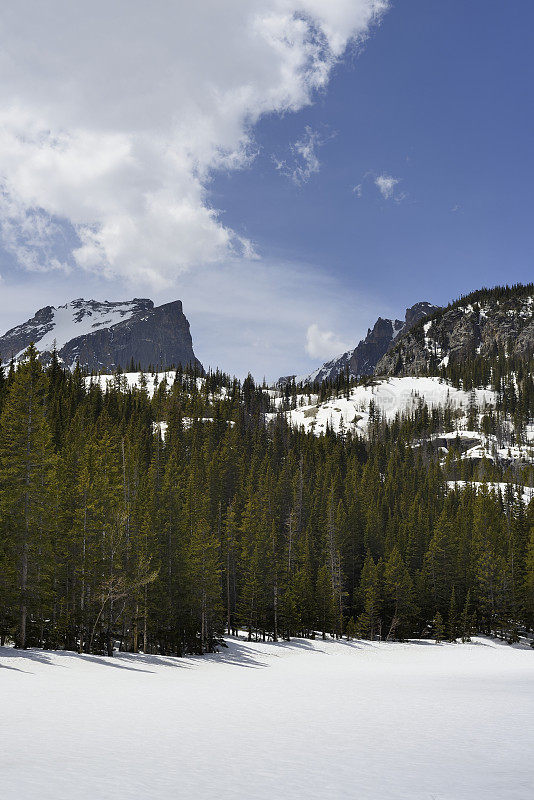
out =
<path fill-rule="evenodd" d="M 479 297 L 479 299 L 477 299 Z M 376 375 L 423 375 L 499 350 L 520 358 L 534 353 L 534 294 L 476 293 L 420 323 L 378 362 Z"/>

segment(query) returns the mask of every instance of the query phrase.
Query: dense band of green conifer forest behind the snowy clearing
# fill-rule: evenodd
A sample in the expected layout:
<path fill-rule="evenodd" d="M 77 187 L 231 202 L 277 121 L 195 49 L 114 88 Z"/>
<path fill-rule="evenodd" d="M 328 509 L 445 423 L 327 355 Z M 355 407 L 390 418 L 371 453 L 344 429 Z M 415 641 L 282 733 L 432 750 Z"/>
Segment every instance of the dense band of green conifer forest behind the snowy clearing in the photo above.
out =
<path fill-rule="evenodd" d="M 0 372 L 1 643 L 183 655 L 237 630 L 532 629 L 534 503 L 511 482 L 450 489 L 461 459 L 431 444 L 446 412 L 315 437 L 250 376 L 146 386 L 43 368 L 33 347 Z"/>

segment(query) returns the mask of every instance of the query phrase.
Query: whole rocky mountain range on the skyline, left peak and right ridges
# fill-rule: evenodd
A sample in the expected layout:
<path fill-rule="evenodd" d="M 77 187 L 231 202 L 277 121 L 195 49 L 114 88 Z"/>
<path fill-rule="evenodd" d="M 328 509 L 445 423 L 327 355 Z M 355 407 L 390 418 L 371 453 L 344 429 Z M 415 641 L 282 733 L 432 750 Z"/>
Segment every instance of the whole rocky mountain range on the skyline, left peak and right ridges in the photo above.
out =
<path fill-rule="evenodd" d="M 155 306 L 152 300 L 124 302 L 79 298 L 45 306 L 0 336 L 0 363 L 17 360 L 34 343 L 43 364 L 54 348 L 72 369 L 79 363 L 92 372 L 113 372 L 132 365 L 147 369 L 203 367 L 195 356 L 182 302 Z M 404 319 L 379 317 L 352 350 L 327 361 L 308 375 L 280 378 L 310 385 L 341 375 L 416 376 L 437 374 L 449 364 L 500 352 L 528 358 L 534 351 L 534 284 L 480 289 L 440 308 L 427 301 L 406 309 Z"/>

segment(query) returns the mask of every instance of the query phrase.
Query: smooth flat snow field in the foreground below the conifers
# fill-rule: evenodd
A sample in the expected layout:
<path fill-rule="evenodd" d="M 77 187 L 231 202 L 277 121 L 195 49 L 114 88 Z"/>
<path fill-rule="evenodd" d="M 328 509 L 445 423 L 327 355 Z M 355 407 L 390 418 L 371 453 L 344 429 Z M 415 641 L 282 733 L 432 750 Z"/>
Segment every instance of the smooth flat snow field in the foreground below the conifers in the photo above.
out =
<path fill-rule="evenodd" d="M 534 653 L 490 640 L 0 649 L 3 800 L 530 800 Z"/>

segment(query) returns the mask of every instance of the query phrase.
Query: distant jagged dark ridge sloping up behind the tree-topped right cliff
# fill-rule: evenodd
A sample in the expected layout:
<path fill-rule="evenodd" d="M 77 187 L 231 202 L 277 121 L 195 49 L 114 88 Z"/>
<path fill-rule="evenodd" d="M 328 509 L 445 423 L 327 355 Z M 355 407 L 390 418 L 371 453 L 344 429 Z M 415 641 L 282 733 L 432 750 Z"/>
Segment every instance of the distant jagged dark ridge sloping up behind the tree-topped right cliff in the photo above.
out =
<path fill-rule="evenodd" d="M 346 353 L 327 361 L 322 367 L 306 376 L 287 376 L 279 379 L 283 385 L 295 377 L 297 383 L 314 383 L 328 380 L 332 381 L 338 375 L 345 373 L 348 368 L 351 378 L 362 375 L 373 375 L 377 363 L 388 352 L 399 336 L 402 336 L 423 317 L 433 314 L 438 306 L 431 303 L 416 303 L 406 309 L 404 321 L 400 319 L 382 319 L 379 317 L 374 327 L 367 331 L 367 336 L 354 348 Z"/>

